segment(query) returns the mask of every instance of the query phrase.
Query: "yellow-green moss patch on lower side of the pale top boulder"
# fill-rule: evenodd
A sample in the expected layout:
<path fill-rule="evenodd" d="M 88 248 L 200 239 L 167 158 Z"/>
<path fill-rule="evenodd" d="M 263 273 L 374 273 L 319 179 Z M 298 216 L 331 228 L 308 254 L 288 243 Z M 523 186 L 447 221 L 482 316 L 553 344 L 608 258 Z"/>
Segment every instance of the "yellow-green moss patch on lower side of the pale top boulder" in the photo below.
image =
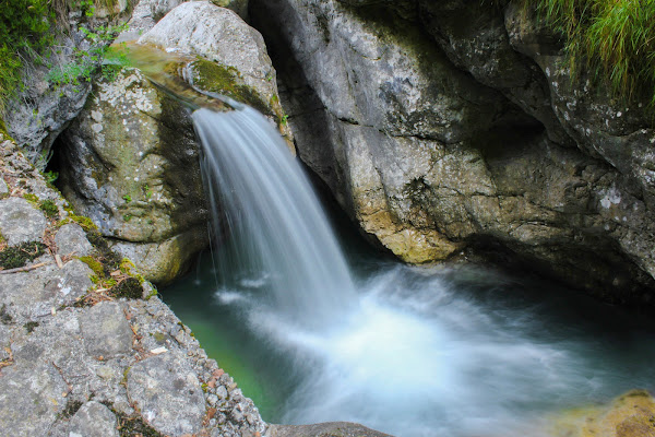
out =
<path fill-rule="evenodd" d="M 239 71 L 234 67 L 198 58 L 191 64 L 194 84 L 201 90 L 231 97 L 235 101 L 246 103 L 262 114 L 275 116 L 265 102 L 262 102 L 258 93 L 246 85 Z"/>

